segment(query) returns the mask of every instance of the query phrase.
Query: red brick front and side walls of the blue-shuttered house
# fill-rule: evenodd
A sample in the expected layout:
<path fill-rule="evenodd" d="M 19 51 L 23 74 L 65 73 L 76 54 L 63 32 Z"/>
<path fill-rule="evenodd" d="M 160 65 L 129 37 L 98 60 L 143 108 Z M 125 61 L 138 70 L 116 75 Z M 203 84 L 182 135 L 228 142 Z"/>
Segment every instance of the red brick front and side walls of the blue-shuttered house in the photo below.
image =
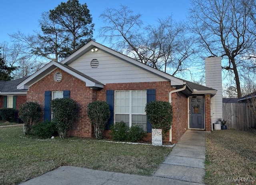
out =
<path fill-rule="evenodd" d="M 54 74 L 61 72 L 63 79 L 61 82 L 54 82 Z M 87 116 L 87 104 L 101 100 L 106 101 L 106 90 L 156 90 L 156 100 L 169 101 L 169 92 L 175 90 L 170 85 L 170 82 L 142 82 L 142 83 L 120 83 L 106 84 L 102 90 L 92 90 L 86 87 L 86 84 L 77 78 L 67 74 L 66 72 L 56 69 L 46 77 L 42 78 L 36 84 L 30 87 L 27 93 L 27 101 L 36 101 L 40 103 L 42 109 L 44 107 L 44 92 L 45 91 L 62 91 L 70 90 L 70 98 L 78 103 L 78 114 L 74 127 L 70 130 L 70 135 L 79 137 L 92 137 L 92 125 Z M 184 133 L 184 128 L 188 128 L 188 104 L 187 98 L 183 93 L 172 94 L 172 105 L 174 109 L 174 119 L 172 124 L 172 141 L 175 143 Z M 177 124 L 178 123 L 178 124 Z M 151 133 L 145 139 L 151 140 Z M 165 141 L 169 141 L 168 136 Z"/>

